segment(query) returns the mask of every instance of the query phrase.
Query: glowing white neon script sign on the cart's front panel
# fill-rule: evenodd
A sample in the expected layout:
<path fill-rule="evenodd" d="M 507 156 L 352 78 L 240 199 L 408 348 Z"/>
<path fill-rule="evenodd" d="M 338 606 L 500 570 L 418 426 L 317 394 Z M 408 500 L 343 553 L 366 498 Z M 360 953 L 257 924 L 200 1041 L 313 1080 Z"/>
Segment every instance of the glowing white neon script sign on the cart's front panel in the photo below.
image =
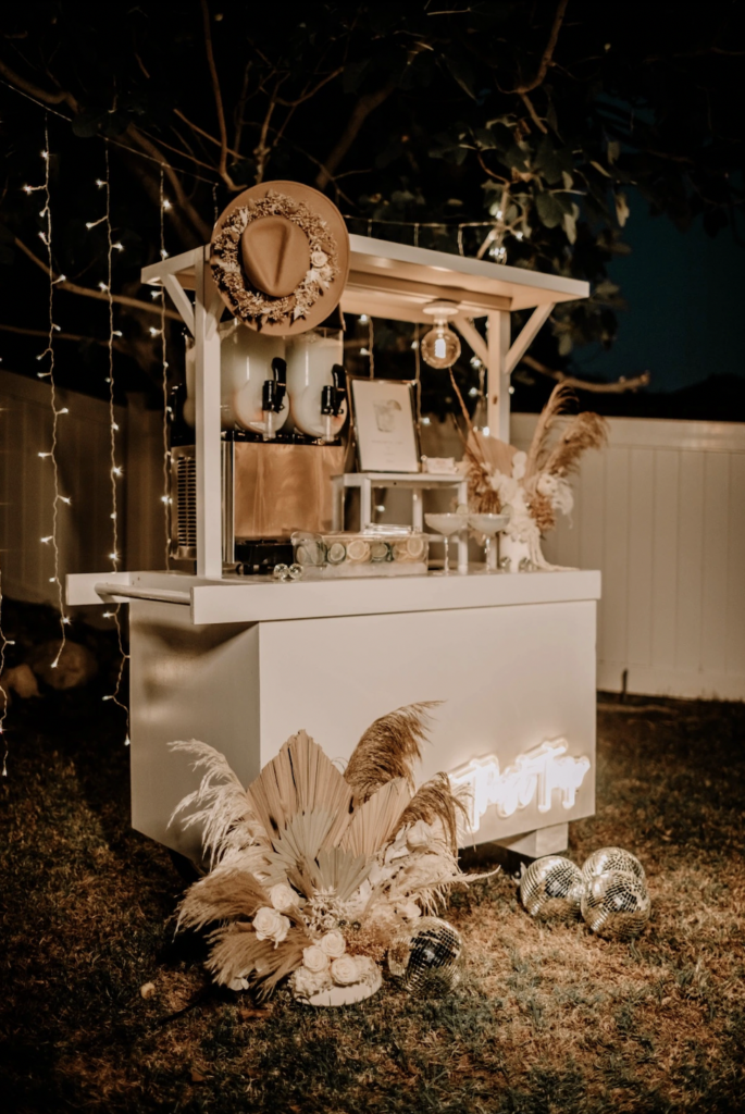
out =
<path fill-rule="evenodd" d="M 526 809 L 531 801 L 537 802 L 539 812 L 549 812 L 553 807 L 553 793 L 558 791 L 562 807 L 574 808 L 590 760 L 567 754 L 568 745 L 566 739 L 541 743 L 518 754 L 514 762 L 501 771 L 496 754 L 472 759 L 453 770 L 450 774 L 453 789 L 467 791 L 471 831 L 479 830 L 481 817 L 490 805 L 497 807 L 502 819 L 518 809 Z"/>

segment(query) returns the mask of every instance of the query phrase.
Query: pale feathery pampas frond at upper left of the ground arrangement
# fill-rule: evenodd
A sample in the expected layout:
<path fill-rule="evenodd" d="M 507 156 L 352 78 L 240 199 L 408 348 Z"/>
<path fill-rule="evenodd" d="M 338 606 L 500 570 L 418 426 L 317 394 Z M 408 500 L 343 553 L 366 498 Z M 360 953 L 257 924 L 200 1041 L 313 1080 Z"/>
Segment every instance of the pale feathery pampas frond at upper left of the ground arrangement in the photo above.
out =
<path fill-rule="evenodd" d="M 202 842 L 210 867 L 228 852 L 241 851 L 261 839 L 262 827 L 225 755 L 197 739 L 177 740 L 168 746 L 171 751 L 196 754 L 197 761 L 192 769 L 205 771 L 199 788 L 177 804 L 168 824 L 192 808 L 196 809 L 182 820 L 182 827 L 198 824 L 202 828 Z"/>

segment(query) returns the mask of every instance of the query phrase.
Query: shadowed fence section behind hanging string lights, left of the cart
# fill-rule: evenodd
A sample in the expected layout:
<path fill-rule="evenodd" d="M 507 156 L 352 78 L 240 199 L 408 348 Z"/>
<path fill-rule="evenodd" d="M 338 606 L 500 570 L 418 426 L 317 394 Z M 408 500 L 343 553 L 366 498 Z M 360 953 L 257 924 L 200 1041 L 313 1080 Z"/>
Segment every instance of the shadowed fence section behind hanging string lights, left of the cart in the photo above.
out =
<path fill-rule="evenodd" d="M 165 557 L 160 418 L 137 395 L 116 407 L 117 525 L 120 568 L 161 568 Z M 72 391 L 57 391 L 59 571 L 111 568 L 112 496 L 109 408 Z M 130 420 L 128 421 L 128 416 Z M 52 416 L 48 380 L 0 372 L 0 563 L 2 590 L 16 599 L 57 603 L 52 532 Z"/>

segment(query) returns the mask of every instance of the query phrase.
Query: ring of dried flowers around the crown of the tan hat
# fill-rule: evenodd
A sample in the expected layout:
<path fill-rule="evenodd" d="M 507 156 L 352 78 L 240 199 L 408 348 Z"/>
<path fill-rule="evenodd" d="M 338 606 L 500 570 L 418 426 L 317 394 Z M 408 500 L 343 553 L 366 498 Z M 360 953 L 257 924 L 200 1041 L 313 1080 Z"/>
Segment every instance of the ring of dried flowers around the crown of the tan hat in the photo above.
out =
<path fill-rule="evenodd" d="M 300 285 L 285 297 L 272 297 L 248 286 L 241 266 L 241 237 L 253 221 L 264 216 L 283 216 L 292 221 L 308 240 L 311 267 Z M 213 242 L 210 264 L 215 282 L 231 297 L 236 316 L 243 321 L 259 321 L 259 324 L 285 317 L 293 321 L 305 317 L 340 274 L 336 241 L 326 222 L 313 213 L 305 202 L 273 189 L 265 197 L 249 199 L 226 217 Z"/>

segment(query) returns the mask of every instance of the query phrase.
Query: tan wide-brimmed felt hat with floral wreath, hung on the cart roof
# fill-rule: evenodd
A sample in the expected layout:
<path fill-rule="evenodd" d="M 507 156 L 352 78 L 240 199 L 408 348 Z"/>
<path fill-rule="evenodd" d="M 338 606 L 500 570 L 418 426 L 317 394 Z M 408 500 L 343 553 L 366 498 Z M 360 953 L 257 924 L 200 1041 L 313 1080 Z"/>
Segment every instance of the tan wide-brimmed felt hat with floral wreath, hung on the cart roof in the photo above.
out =
<path fill-rule="evenodd" d="M 333 202 L 298 182 L 264 182 L 219 216 L 210 264 L 223 301 L 264 333 L 295 335 L 339 305 L 350 237 Z"/>

